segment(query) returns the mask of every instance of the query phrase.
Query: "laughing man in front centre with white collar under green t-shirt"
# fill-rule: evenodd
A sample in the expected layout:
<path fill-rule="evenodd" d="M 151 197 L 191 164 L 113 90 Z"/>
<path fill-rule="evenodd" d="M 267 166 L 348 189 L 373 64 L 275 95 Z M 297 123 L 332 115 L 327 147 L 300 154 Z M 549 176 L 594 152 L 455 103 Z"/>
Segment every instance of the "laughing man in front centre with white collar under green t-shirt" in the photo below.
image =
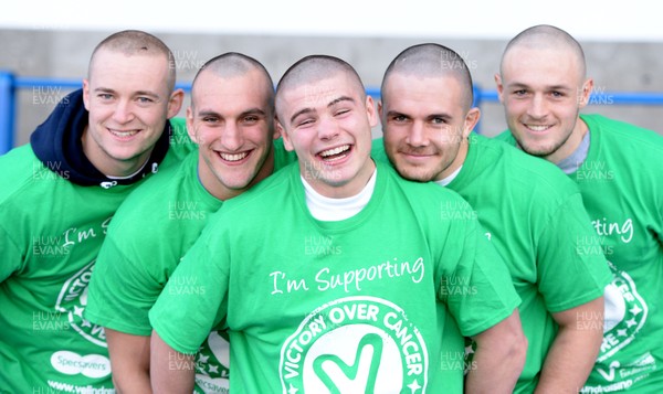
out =
<path fill-rule="evenodd" d="M 172 360 L 224 321 L 233 393 L 462 393 L 462 334 L 485 345 L 465 390 L 511 393 L 519 300 L 467 203 L 372 161 L 373 102 L 339 58 L 286 71 L 276 114 L 298 164 L 224 203 L 170 278 L 150 311 L 155 391 L 189 393 Z"/>

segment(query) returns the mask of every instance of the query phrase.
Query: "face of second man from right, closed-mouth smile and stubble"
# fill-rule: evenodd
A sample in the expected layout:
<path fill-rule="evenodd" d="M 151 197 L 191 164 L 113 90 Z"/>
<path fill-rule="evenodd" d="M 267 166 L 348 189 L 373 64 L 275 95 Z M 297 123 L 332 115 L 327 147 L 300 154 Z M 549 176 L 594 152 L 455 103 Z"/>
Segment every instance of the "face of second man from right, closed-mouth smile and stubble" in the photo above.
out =
<path fill-rule="evenodd" d="M 464 105 L 457 78 L 392 73 L 379 104 L 385 150 L 401 177 L 438 181 L 460 168 L 478 109 Z"/>

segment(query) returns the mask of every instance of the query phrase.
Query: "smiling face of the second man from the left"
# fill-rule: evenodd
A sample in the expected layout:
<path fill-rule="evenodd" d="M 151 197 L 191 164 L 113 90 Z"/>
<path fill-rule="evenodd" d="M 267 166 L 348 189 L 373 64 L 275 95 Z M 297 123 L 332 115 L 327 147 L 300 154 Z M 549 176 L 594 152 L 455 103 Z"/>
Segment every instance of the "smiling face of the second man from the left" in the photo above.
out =
<path fill-rule="evenodd" d="M 199 145 L 200 180 L 220 200 L 242 193 L 274 169 L 270 89 L 256 70 L 228 78 L 203 71 L 196 78 L 187 128 Z"/>

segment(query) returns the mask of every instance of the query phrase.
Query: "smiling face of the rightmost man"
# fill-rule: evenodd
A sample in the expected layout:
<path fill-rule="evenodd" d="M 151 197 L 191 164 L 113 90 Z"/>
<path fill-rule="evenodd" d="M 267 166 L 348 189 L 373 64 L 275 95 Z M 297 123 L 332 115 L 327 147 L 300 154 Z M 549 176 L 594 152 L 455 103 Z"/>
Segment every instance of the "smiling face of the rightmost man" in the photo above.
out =
<path fill-rule="evenodd" d="M 499 100 L 523 150 L 555 163 L 570 156 L 587 132 L 578 115 L 593 84 L 585 79 L 578 57 L 555 46 L 517 45 L 501 70 Z"/>

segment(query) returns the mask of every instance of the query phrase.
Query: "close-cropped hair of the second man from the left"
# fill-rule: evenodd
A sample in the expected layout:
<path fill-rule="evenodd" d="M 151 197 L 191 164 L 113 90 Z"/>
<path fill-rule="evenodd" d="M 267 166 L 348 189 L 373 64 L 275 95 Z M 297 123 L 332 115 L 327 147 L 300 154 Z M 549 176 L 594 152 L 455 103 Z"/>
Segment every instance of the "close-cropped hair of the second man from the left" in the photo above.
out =
<path fill-rule="evenodd" d="M 251 56 L 246 56 L 236 52 L 228 52 L 221 54 L 219 56 L 210 58 L 206 64 L 200 67 L 196 77 L 193 78 L 191 93 L 194 93 L 197 89 L 196 81 L 198 81 L 201 74 L 211 73 L 214 76 L 220 78 L 229 79 L 236 76 L 243 76 L 251 72 L 260 73 L 264 82 L 264 86 L 262 88 L 265 89 L 265 97 L 269 99 L 269 105 L 274 105 L 274 83 L 272 82 L 272 77 L 270 73 L 259 61 Z M 193 103 L 191 103 L 193 105 Z"/>

